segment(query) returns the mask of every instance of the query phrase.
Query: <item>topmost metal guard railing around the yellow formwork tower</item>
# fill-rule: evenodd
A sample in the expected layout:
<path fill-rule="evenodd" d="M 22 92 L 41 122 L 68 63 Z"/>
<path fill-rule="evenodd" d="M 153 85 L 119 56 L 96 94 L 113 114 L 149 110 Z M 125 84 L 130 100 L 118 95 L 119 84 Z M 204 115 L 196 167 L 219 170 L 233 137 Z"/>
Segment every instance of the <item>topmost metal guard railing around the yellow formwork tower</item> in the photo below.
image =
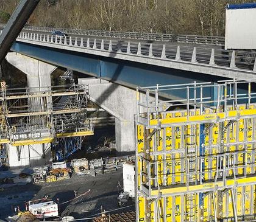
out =
<path fill-rule="evenodd" d="M 256 93 L 251 91 L 252 82 L 255 82 L 255 80 L 226 80 L 225 82 L 220 81 L 217 85 L 210 82 L 194 82 L 138 87 L 137 121 L 147 125 L 147 127 L 151 127 L 151 120 L 155 119 L 159 123 L 162 117 L 161 114 L 165 113 L 166 108 L 178 109 L 181 105 L 187 111 L 186 119 L 188 122 L 190 121 L 190 116 L 196 114 L 197 109 L 199 109 L 200 114 L 205 113 L 205 110 L 208 109 L 208 114 L 210 115 L 228 112 L 230 107 L 233 110 L 238 110 L 239 105 L 243 103 L 247 103 L 250 106 L 251 103 L 256 101 Z M 240 86 L 244 87 L 244 91 L 239 89 Z M 169 94 L 176 96 L 177 99 L 160 100 L 159 95 L 164 92 L 169 92 Z M 213 108 L 215 112 L 212 112 Z M 157 127 L 157 125 L 154 127 Z"/>

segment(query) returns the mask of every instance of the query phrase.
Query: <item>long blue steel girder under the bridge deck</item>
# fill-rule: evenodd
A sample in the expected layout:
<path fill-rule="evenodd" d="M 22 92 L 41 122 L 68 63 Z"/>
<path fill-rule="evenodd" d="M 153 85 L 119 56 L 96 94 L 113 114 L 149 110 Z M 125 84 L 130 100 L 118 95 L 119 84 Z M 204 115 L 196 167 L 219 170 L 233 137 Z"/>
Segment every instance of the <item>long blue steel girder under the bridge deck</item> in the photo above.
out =
<path fill-rule="evenodd" d="M 137 86 L 154 86 L 157 84 L 180 84 L 191 82 L 217 82 L 224 78 L 215 75 L 164 68 L 151 64 L 120 60 L 113 57 L 85 54 L 71 50 L 38 46 L 16 41 L 11 50 L 46 63 L 73 69 L 74 71 L 103 78 L 113 83 L 135 89 Z M 209 94 L 216 92 L 209 92 Z M 184 97 L 186 95 L 183 95 Z M 180 97 L 170 95 L 168 97 Z"/>

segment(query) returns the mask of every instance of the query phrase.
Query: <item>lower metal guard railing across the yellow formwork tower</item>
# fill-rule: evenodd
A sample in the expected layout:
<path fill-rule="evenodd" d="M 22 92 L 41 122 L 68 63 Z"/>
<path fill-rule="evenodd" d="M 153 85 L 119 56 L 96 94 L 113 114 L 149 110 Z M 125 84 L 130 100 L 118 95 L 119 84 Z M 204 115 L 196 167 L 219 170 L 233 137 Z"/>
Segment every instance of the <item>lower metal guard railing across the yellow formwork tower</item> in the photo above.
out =
<path fill-rule="evenodd" d="M 205 160 L 205 158 L 211 158 L 212 161 L 216 160 L 216 165 L 214 167 L 204 168 L 204 170 L 202 170 L 201 167 L 194 168 L 194 170 L 185 168 L 183 170 L 180 170 L 180 172 L 171 172 L 169 173 L 169 175 L 156 175 L 154 169 L 157 168 L 158 166 L 163 165 L 163 163 L 168 165 L 180 162 L 180 164 L 182 165 L 189 165 L 191 159 L 181 158 L 180 160 L 169 159 L 168 161 L 149 161 L 148 159 L 140 157 L 140 162 L 144 163 L 144 168 L 146 168 L 146 170 L 144 171 L 142 168 L 140 169 L 140 184 L 144 187 L 147 187 L 148 190 L 154 188 L 165 189 L 166 186 L 163 186 L 163 184 L 165 184 L 166 182 L 163 181 L 167 180 L 173 181 L 171 183 L 171 186 L 177 186 L 177 184 L 179 184 L 179 187 L 189 187 L 207 183 L 214 183 L 215 187 L 232 187 L 228 185 L 227 179 L 232 179 L 232 181 L 234 181 L 235 184 L 236 179 L 247 176 L 247 167 L 256 167 L 255 163 L 253 162 L 238 163 L 238 154 L 246 156 L 247 151 L 242 150 L 237 151 L 235 153 L 228 152 L 209 156 L 197 156 L 197 158 L 193 159 L 193 161 L 202 162 Z M 224 164 L 221 164 L 221 162 L 224 162 Z M 205 175 L 209 175 L 209 179 L 205 179 Z M 211 177 L 210 175 L 213 176 Z M 255 176 L 255 173 L 249 173 L 249 175 Z M 178 183 L 175 182 L 177 180 L 179 181 Z M 222 184 L 220 185 L 219 182 L 222 182 Z M 150 195 L 151 193 L 149 192 L 149 197 Z"/>

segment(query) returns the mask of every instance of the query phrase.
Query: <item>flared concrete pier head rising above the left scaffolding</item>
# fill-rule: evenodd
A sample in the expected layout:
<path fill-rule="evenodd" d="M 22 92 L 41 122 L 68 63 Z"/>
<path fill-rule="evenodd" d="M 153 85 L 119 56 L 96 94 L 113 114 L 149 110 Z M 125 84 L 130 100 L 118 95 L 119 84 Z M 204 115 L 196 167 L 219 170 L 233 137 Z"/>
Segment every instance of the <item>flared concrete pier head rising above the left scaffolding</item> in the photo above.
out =
<path fill-rule="evenodd" d="M 51 73 L 56 66 L 15 52 L 9 52 L 5 58 L 27 75 L 27 87 L 51 86 Z"/>

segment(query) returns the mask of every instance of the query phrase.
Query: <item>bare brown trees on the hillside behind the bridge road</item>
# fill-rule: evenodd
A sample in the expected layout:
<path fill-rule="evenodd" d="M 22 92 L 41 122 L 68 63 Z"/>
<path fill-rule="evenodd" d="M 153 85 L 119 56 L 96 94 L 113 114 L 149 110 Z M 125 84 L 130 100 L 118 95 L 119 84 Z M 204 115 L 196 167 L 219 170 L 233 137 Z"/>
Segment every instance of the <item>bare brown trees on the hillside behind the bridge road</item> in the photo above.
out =
<path fill-rule="evenodd" d="M 0 10 L 11 14 L 19 2 L 0 0 Z M 244 2 L 247 0 L 41 0 L 29 23 L 74 29 L 224 35 L 226 4 Z"/>

